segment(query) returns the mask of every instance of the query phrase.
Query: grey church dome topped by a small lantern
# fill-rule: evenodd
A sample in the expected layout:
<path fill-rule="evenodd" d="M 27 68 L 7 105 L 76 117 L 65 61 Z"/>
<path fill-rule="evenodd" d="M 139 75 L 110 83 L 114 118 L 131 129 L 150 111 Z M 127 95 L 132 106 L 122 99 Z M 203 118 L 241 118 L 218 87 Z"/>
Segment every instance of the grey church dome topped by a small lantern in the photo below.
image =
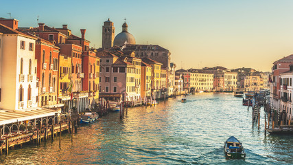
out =
<path fill-rule="evenodd" d="M 114 45 L 122 46 L 124 44 L 135 44 L 134 36 L 128 32 L 127 23 L 122 25 L 122 32 L 117 34 L 114 39 Z"/>

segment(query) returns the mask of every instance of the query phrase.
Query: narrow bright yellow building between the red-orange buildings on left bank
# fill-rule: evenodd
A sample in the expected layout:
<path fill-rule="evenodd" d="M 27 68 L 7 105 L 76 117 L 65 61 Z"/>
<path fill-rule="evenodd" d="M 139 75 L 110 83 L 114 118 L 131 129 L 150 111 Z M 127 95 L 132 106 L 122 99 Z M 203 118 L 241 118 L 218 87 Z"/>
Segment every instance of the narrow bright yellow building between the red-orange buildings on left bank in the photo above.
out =
<path fill-rule="evenodd" d="M 72 107 L 71 96 L 69 96 L 69 87 L 71 85 L 71 56 L 65 54 L 59 55 L 58 69 L 58 98 L 62 100 L 62 104 Z"/>

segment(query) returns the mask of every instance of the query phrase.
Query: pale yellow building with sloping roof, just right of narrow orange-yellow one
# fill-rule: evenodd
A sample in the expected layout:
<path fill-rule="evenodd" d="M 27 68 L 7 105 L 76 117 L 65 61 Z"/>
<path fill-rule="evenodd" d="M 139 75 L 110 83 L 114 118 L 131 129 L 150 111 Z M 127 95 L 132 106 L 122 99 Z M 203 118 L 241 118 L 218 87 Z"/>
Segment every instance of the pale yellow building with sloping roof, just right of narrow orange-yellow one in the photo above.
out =
<path fill-rule="evenodd" d="M 163 64 L 150 58 L 143 58 L 142 61 L 152 66 L 152 97 L 161 98 L 161 67 Z"/>

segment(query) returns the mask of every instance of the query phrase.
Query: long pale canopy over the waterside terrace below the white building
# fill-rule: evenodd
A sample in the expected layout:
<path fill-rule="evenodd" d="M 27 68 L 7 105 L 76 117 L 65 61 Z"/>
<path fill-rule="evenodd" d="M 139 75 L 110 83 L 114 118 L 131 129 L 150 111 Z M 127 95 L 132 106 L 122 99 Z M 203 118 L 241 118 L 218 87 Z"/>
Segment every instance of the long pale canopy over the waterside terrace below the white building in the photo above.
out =
<path fill-rule="evenodd" d="M 60 113 L 60 110 L 56 111 L 54 109 L 37 108 L 26 111 L 12 111 L 0 109 L 0 126 L 37 118 L 45 118 L 47 116 L 55 115 L 56 113 Z"/>

